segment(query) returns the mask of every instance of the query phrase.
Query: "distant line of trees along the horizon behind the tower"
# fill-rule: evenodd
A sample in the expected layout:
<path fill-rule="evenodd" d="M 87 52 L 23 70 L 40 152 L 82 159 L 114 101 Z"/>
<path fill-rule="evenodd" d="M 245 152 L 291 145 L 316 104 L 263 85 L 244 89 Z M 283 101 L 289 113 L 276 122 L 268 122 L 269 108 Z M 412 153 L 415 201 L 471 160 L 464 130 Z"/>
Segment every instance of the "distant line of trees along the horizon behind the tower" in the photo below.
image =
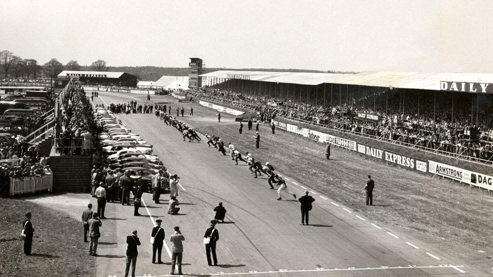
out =
<path fill-rule="evenodd" d="M 47 63 L 40 65 L 34 59 L 22 59 L 15 56 L 12 51 L 4 50 L 0 52 L 0 78 L 15 79 L 36 79 L 38 77 L 50 77 L 52 74 L 57 76 L 64 70 L 72 71 L 114 71 L 126 72 L 137 76 L 139 80 L 156 81 L 161 76 L 188 76 L 188 68 L 179 67 L 155 67 L 155 66 L 138 66 L 138 67 L 115 67 L 107 66 L 103 60 L 97 60 L 90 66 L 81 66 L 77 61 L 70 61 L 66 65 L 60 63 L 57 59 L 51 59 Z M 319 71 L 319 70 L 302 70 L 302 69 L 258 69 L 258 68 L 204 68 L 203 73 L 209 73 L 218 70 L 242 70 L 242 71 L 276 71 L 276 72 L 318 72 L 318 73 L 350 73 L 337 71 Z M 352 72 L 351 72 L 352 73 Z"/>

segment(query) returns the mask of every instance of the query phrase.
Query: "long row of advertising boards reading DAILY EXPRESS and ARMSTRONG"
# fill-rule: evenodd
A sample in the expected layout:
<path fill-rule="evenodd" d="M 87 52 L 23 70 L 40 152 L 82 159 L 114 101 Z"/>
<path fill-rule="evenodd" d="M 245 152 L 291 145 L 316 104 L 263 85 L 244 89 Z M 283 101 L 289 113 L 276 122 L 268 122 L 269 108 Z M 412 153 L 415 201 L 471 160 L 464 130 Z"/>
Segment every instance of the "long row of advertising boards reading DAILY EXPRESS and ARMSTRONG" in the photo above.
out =
<path fill-rule="evenodd" d="M 292 124 L 286 124 L 277 120 L 272 120 L 272 123 L 280 130 L 302 135 L 319 142 L 330 143 L 366 156 L 371 156 L 389 163 L 400 165 L 404 168 L 438 175 L 487 190 L 493 190 L 493 177 L 489 175 L 453 167 L 452 165 L 433 160 L 422 160 L 412 156 L 387 151 L 385 149 L 380 149 L 364 143 L 336 137 Z"/>

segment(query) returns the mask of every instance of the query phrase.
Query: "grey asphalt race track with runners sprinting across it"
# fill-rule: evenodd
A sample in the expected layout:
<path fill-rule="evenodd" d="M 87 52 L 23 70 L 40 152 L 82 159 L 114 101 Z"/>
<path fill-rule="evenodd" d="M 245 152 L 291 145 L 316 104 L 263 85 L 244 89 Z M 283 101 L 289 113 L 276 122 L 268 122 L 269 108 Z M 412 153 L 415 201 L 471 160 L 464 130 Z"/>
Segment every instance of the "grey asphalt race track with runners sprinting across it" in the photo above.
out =
<path fill-rule="evenodd" d="M 99 92 L 94 103 L 106 106 L 135 99 L 143 101 L 140 95 Z M 171 102 L 171 114 L 176 113 L 176 99 L 168 96 L 159 99 L 163 103 Z M 198 104 L 184 106 L 191 105 L 197 115 L 201 109 L 207 109 Z M 134 133 L 153 144 L 154 154 L 171 174 L 181 178 L 178 196 L 181 210 L 178 215 L 167 214 L 167 194 L 161 196 L 162 204 L 155 204 L 151 194 L 144 194 L 145 207 L 139 210 L 142 216 L 133 216 L 133 206 L 108 203 L 105 212 L 108 219 L 103 220 L 97 250 L 100 255 L 98 276 L 124 274 L 125 240 L 133 230 L 138 231 L 142 243 L 138 247 L 136 275 L 169 275 L 169 237 L 174 226 L 179 226 L 185 237 L 183 273 L 190 275 L 475 275 L 453 255 L 432 249 L 408 234 L 392 233 L 386 226 L 316 191 L 311 193 L 316 199 L 310 212 L 311 226 L 302 226 L 298 200 L 283 192 L 282 200 L 277 201 L 277 193 L 269 189 L 265 176 L 254 179 L 243 162 L 235 165 L 229 156 L 211 149 L 204 140 L 184 142 L 175 128 L 167 126 L 154 114 L 121 114 L 119 117 Z M 201 122 L 213 124 L 217 118 L 195 116 L 190 125 L 195 127 Z M 226 114 L 222 114 L 221 124 L 236 126 L 234 118 Z M 311 190 L 307 184 L 293 179 L 295 176 L 290 174 L 294 173 L 279 174 L 297 197 Z M 208 266 L 202 238 L 210 227 L 213 208 L 218 202 L 223 202 L 227 210 L 226 222 L 216 226 L 218 266 Z M 162 254 L 165 264 L 151 263 L 150 237 L 158 218 L 163 220 L 166 232 Z"/>

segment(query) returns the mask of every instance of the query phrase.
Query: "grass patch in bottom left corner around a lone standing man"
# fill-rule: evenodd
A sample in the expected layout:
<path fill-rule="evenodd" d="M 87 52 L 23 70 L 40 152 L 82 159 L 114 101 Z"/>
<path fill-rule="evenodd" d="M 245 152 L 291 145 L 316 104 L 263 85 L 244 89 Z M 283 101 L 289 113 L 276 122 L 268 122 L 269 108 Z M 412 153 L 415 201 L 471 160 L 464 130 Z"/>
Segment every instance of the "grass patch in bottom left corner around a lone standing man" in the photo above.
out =
<path fill-rule="evenodd" d="M 1 276 L 93 276 L 95 258 L 83 242 L 81 223 L 68 214 L 21 199 L 0 199 Z M 32 256 L 19 239 L 24 214 L 32 212 Z"/>

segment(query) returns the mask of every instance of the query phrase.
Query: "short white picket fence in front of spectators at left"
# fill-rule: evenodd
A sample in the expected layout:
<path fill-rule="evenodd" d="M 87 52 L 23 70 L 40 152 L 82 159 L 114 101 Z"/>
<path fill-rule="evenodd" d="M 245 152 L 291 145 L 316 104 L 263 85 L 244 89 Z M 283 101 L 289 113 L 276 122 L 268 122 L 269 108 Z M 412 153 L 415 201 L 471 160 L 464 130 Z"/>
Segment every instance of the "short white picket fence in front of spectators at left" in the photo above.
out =
<path fill-rule="evenodd" d="M 10 179 L 10 196 L 53 190 L 53 175 Z"/>

